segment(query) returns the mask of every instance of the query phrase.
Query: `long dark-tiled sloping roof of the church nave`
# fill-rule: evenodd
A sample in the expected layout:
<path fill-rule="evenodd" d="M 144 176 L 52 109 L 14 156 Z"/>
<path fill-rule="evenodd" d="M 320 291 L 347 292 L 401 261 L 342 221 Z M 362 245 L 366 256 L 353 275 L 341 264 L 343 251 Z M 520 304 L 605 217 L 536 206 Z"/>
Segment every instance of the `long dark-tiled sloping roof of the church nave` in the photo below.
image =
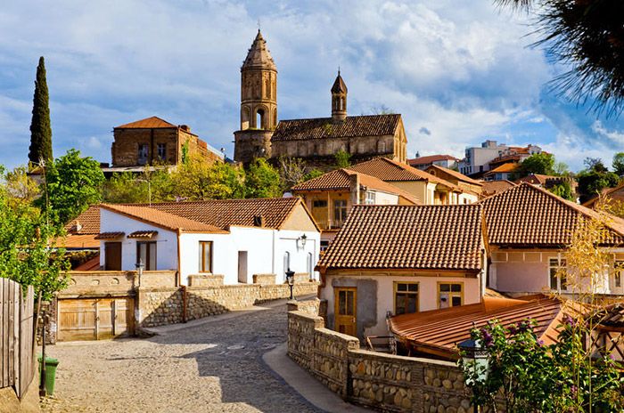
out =
<path fill-rule="evenodd" d="M 401 115 L 398 114 L 346 117 L 342 122 L 334 122 L 332 117 L 281 120 L 271 141 L 393 135 L 400 120 Z"/>

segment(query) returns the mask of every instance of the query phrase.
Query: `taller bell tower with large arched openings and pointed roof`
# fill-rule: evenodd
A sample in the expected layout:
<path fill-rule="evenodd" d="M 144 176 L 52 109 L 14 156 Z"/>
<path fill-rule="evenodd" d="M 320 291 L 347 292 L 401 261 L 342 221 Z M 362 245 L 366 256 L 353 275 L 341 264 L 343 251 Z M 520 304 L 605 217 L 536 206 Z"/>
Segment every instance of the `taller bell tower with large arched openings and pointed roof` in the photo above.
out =
<path fill-rule="evenodd" d="M 277 126 L 277 68 L 258 30 L 241 67 L 241 126 L 234 132 L 234 160 L 271 157 Z"/>

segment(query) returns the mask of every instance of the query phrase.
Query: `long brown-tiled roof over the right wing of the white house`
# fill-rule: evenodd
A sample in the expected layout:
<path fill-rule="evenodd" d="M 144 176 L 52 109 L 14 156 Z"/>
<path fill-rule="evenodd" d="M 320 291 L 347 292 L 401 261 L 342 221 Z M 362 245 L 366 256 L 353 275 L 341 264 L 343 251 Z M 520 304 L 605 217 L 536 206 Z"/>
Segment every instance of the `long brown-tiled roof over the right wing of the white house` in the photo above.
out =
<path fill-rule="evenodd" d="M 152 204 L 152 209 L 222 229 L 229 225 L 251 227 L 254 226 L 254 217 L 262 216 L 265 228 L 279 229 L 300 203 L 301 199 L 297 197 L 213 199 Z"/>

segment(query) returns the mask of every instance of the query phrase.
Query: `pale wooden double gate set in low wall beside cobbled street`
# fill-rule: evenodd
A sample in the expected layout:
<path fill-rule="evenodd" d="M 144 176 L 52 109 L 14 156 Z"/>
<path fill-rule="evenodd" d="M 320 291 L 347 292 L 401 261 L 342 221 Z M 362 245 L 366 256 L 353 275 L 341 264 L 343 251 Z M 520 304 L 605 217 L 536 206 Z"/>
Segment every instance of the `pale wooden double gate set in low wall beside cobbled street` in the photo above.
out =
<path fill-rule="evenodd" d="M 59 300 L 59 341 L 132 336 L 135 305 L 131 297 Z"/>

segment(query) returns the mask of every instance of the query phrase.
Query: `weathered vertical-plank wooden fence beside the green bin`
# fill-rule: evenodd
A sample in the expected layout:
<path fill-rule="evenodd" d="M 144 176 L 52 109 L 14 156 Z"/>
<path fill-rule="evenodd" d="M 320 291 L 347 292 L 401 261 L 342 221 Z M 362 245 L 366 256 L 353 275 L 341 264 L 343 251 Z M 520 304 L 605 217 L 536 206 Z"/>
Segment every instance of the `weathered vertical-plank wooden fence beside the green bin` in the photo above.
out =
<path fill-rule="evenodd" d="M 34 290 L 0 278 L 0 388 L 26 393 L 35 374 Z"/>

